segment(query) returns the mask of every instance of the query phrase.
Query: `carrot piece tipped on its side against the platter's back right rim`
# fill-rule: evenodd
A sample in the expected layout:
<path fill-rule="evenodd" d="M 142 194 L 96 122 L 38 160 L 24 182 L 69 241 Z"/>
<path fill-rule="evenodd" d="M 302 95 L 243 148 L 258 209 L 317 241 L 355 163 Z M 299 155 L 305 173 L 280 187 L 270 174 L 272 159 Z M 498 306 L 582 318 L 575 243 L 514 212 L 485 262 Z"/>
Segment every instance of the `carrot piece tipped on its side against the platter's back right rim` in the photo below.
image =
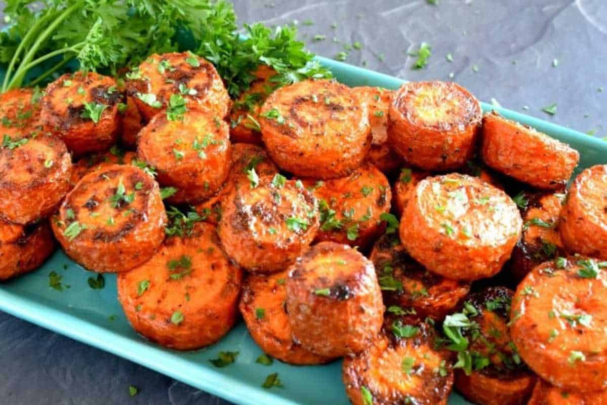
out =
<path fill-rule="evenodd" d="M 561 188 L 580 159 L 569 145 L 495 111 L 483 117 L 481 155 L 489 167 L 541 189 Z"/>

